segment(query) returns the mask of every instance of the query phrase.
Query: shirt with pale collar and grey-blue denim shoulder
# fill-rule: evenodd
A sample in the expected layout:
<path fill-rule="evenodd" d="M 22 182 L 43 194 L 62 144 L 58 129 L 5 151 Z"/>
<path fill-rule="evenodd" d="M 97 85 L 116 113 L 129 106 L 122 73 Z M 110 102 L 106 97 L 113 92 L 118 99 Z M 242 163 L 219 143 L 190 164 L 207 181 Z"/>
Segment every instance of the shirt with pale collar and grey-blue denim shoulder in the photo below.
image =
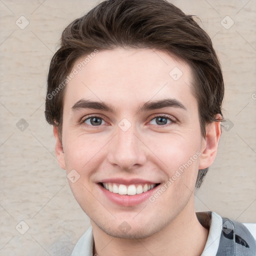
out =
<path fill-rule="evenodd" d="M 201 256 L 256 255 L 256 242 L 248 229 L 238 222 L 222 218 L 215 212 L 196 212 L 198 221 L 209 229 Z M 239 234 L 235 232 L 235 228 Z M 93 233 L 90 226 L 76 243 L 71 256 L 94 256 Z"/>

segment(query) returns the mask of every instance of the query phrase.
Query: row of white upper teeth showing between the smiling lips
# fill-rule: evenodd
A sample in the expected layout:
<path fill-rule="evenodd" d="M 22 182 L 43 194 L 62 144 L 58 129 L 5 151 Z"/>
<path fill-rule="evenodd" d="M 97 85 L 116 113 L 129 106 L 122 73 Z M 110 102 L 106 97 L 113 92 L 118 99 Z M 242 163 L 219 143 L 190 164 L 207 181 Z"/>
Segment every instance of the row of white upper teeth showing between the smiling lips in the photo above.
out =
<path fill-rule="evenodd" d="M 147 192 L 148 190 L 153 189 L 155 186 L 158 186 L 160 183 L 141 183 L 124 185 L 112 182 L 100 182 L 99 184 L 112 193 L 118 193 L 121 195 L 134 195 Z"/>

